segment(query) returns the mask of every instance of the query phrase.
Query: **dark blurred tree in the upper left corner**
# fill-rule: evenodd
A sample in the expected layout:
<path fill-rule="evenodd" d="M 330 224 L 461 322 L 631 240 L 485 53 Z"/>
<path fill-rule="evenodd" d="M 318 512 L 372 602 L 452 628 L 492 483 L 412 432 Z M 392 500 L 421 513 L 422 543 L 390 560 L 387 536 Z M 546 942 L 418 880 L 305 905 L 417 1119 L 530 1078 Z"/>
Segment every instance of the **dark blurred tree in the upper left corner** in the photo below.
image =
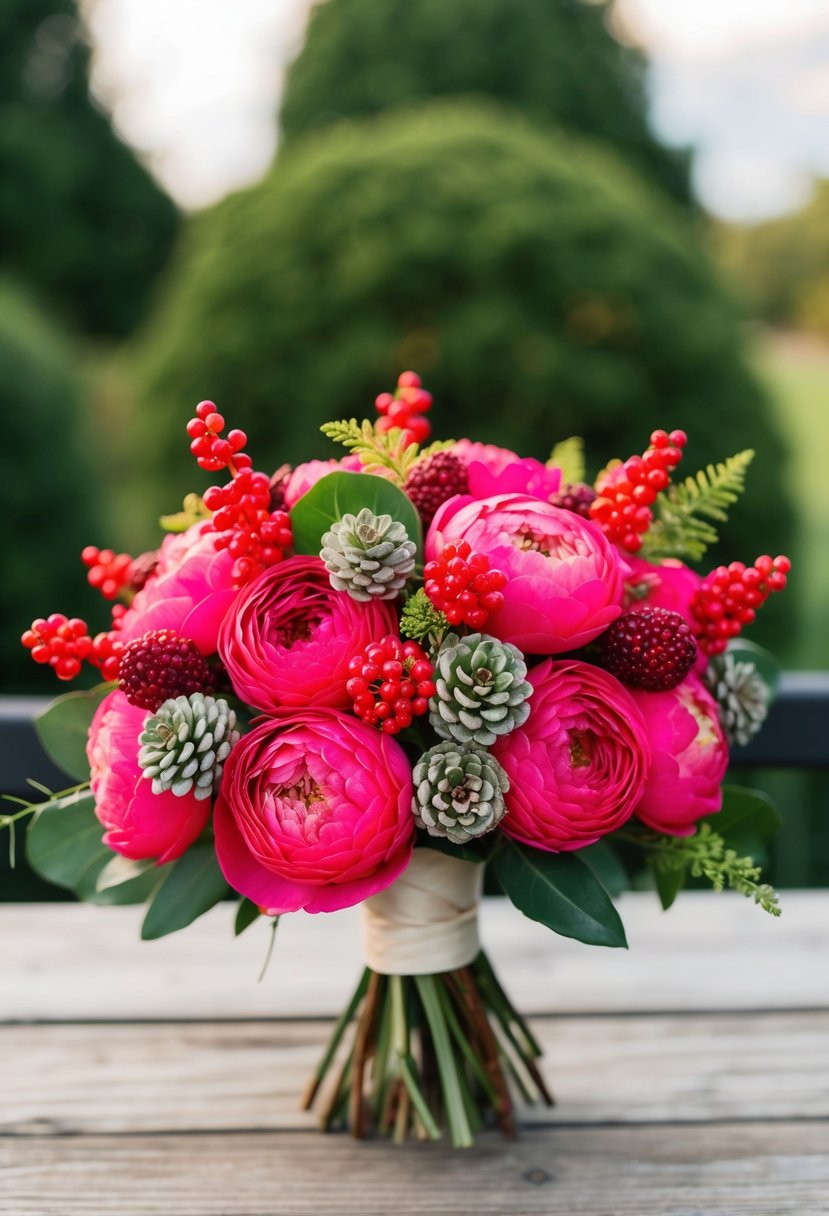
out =
<path fill-rule="evenodd" d="M 0 2 L 0 266 L 73 328 L 125 334 L 177 227 L 89 92 L 72 0 Z"/>

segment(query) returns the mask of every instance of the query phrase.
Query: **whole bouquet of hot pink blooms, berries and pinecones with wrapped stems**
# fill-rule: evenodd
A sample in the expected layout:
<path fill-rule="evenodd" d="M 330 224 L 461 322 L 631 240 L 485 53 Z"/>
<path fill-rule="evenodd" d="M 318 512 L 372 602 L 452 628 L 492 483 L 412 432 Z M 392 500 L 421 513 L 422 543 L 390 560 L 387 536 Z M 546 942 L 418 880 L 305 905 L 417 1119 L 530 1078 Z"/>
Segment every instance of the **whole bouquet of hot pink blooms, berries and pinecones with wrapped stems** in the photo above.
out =
<path fill-rule="evenodd" d="M 594 945 L 626 944 L 613 897 L 648 867 L 665 907 L 693 876 L 778 913 L 755 860 L 773 811 L 722 782 L 773 691 L 739 635 L 789 561 L 683 562 L 751 452 L 677 483 L 686 435 L 656 430 L 590 485 L 577 439 L 547 463 L 428 443 L 412 372 L 376 405 L 322 428 L 342 458 L 269 475 L 201 402 L 191 450 L 219 484 L 157 551 L 81 554 L 109 627 L 23 635 L 61 680 L 106 682 L 38 721 L 78 784 L 2 823 L 79 897 L 147 901 L 147 939 L 229 894 L 237 933 L 361 903 L 366 970 L 305 1102 L 461 1147 L 511 1133 L 515 1094 L 552 1100 L 480 946 L 485 871 Z"/>

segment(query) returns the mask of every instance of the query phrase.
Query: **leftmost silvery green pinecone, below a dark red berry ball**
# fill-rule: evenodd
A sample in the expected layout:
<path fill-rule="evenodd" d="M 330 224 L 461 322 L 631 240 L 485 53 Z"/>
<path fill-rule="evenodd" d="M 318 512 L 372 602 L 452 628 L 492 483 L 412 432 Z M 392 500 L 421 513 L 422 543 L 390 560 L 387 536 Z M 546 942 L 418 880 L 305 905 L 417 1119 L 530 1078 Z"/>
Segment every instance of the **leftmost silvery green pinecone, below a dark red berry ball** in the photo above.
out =
<path fill-rule="evenodd" d="M 201 692 L 174 697 L 145 721 L 139 764 L 153 794 L 192 790 L 198 799 L 210 798 L 238 738 L 236 714 L 224 698 Z"/>

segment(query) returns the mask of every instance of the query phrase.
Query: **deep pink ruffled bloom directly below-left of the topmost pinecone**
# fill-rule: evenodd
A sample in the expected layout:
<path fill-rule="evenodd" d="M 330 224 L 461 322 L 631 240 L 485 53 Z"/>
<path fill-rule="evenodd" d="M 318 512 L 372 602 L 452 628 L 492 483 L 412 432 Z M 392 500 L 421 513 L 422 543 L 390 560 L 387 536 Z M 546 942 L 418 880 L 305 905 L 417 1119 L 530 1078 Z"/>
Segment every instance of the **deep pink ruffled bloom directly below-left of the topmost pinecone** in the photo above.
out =
<path fill-rule="evenodd" d="M 219 653 L 236 693 L 267 714 L 350 709 L 349 659 L 396 632 L 389 601 L 357 602 L 334 591 L 318 557 L 289 557 L 242 589 Z"/>

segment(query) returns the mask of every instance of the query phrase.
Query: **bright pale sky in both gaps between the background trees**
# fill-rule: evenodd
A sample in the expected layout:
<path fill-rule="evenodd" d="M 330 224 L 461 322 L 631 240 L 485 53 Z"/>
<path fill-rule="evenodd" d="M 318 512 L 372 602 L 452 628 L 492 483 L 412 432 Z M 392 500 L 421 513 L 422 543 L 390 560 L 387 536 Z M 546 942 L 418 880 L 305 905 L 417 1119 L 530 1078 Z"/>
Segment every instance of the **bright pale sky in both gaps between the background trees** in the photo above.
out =
<path fill-rule="evenodd" d="M 184 207 L 269 167 L 309 6 L 85 0 L 94 88 Z M 829 176 L 829 0 L 617 0 L 617 19 L 650 58 L 654 129 L 695 147 L 695 188 L 714 214 L 778 215 Z"/>

